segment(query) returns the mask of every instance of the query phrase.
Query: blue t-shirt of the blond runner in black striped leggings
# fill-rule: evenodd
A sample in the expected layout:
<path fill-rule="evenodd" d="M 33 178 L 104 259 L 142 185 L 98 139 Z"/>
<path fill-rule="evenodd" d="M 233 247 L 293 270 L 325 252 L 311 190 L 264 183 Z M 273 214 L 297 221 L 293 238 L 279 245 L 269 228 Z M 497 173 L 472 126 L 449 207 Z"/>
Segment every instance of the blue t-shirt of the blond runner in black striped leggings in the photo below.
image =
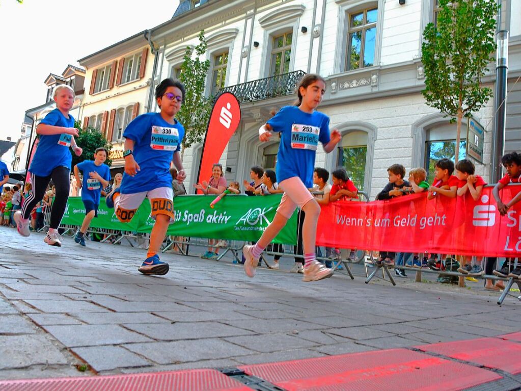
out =
<path fill-rule="evenodd" d="M 42 119 L 41 124 L 61 126 L 64 128 L 74 127 L 74 118 L 69 114 L 65 118 L 61 112 L 55 108 L 51 113 Z M 69 151 L 72 135 L 61 133 L 59 135 L 40 135 L 40 142 L 36 147 L 31 167 L 29 171 L 34 175 L 45 177 L 51 175 L 56 167 L 67 167 L 70 170 L 72 155 Z"/>

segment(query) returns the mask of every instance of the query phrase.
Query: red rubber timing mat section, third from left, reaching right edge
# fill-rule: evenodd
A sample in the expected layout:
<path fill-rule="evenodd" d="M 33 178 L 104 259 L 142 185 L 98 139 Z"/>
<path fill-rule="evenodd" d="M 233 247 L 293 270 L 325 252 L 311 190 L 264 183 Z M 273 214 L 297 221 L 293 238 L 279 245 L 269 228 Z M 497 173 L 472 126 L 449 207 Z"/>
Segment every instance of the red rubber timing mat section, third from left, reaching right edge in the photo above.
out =
<path fill-rule="evenodd" d="M 464 360 L 516 375 L 521 373 L 521 344 L 499 338 L 478 338 L 416 346 L 417 349 Z"/>

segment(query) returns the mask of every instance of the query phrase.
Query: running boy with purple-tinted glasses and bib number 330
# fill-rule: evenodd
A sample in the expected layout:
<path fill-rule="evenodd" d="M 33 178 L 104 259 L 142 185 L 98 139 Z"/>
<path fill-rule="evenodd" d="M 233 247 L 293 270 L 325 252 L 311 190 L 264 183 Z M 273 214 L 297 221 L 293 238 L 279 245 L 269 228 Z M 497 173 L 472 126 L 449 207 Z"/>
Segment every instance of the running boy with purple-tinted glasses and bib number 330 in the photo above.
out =
<path fill-rule="evenodd" d="M 183 126 L 175 119 L 185 95 L 179 80 L 165 79 L 156 87 L 155 97 L 160 113 L 142 114 L 127 126 L 125 137 L 125 174 L 121 186 L 107 194 L 107 206 L 115 207 L 116 216 L 128 223 L 143 200 L 148 198 L 155 220 L 146 259 L 138 268 L 143 274 L 164 275 L 168 263 L 157 253 L 165 239 L 168 225 L 174 221 L 170 162 L 178 169 L 177 180 L 186 177 L 181 162 Z"/>

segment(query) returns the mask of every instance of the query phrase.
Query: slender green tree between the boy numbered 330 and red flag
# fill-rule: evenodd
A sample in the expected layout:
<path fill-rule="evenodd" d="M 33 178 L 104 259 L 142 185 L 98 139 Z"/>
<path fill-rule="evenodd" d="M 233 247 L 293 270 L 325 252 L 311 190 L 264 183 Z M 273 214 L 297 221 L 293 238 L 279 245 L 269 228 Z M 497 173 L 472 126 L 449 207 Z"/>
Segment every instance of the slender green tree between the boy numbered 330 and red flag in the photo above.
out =
<path fill-rule="evenodd" d="M 195 56 L 193 56 L 194 52 Z M 186 89 L 183 105 L 176 115 L 177 120 L 186 130 L 182 141 L 181 156 L 184 156 L 185 149 L 203 140 L 210 111 L 212 110 L 213 99 L 212 97 L 206 97 L 204 94 L 206 77 L 210 68 L 209 60 L 201 61 L 201 56 L 205 53 L 206 41 L 204 39 L 204 30 L 202 30 L 199 33 L 199 44 L 194 48 L 187 46 L 179 76 L 179 80 Z"/>

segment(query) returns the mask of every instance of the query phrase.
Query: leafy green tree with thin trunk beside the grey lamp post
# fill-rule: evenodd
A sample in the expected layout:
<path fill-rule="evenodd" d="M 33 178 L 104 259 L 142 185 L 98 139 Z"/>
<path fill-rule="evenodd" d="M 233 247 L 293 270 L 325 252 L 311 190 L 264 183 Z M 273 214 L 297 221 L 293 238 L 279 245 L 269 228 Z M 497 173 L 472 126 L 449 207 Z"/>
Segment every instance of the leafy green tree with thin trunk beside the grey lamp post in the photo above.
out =
<path fill-rule="evenodd" d="M 439 0 L 437 26 L 424 30 L 421 62 L 427 104 L 457 121 L 454 157 L 460 149 L 462 118 L 470 117 L 492 96 L 481 85 L 495 50 L 494 0 Z"/>

